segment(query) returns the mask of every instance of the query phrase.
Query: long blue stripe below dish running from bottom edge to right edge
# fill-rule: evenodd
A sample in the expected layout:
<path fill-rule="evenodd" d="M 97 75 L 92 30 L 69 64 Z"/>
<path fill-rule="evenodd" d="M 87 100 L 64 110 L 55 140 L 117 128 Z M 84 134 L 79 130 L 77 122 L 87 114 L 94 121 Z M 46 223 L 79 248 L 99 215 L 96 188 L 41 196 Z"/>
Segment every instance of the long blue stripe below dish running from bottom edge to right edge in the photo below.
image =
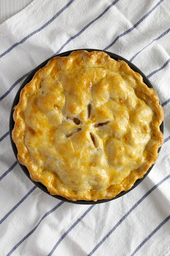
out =
<path fill-rule="evenodd" d="M 139 201 L 137 201 L 136 204 L 133 205 L 133 207 L 117 222 L 117 224 L 108 232 L 108 234 L 94 247 L 94 249 L 88 254 L 88 256 L 91 256 L 99 247 L 100 245 L 113 233 L 114 230 L 116 230 L 117 227 L 127 218 L 127 216 L 133 212 L 133 210 L 142 203 L 142 201 L 150 195 L 151 192 L 153 192 L 154 189 L 156 189 L 158 186 L 160 186 L 165 180 L 170 178 L 170 174 L 167 175 L 163 180 L 159 181 L 155 186 L 153 186 Z"/>

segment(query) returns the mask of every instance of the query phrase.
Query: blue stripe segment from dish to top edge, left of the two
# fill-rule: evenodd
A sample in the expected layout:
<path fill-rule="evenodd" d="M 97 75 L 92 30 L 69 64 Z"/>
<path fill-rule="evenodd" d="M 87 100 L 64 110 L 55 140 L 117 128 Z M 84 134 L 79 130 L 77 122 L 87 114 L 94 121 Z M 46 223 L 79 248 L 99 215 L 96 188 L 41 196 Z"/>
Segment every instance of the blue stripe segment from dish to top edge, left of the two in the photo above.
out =
<path fill-rule="evenodd" d="M 54 54 L 59 54 L 59 52 L 61 52 L 61 50 L 68 44 L 70 43 L 74 38 L 77 38 L 79 35 L 82 34 L 82 32 L 84 32 L 89 26 L 91 26 L 96 20 L 99 20 L 99 18 L 101 18 L 106 12 L 108 12 L 108 10 L 114 6 L 119 0 L 115 0 L 113 1 L 113 3 L 111 3 L 106 9 L 105 11 L 103 11 L 98 17 L 96 17 L 94 20 L 92 20 L 91 22 L 89 22 L 86 26 L 84 26 L 84 28 L 82 30 L 80 30 L 76 35 L 72 36 L 71 38 L 69 38 L 65 44 L 62 45 L 62 47 L 59 48 L 59 50 Z M 161 0 L 163 1 L 163 0 Z M 54 56 L 53 55 L 53 56 Z"/>

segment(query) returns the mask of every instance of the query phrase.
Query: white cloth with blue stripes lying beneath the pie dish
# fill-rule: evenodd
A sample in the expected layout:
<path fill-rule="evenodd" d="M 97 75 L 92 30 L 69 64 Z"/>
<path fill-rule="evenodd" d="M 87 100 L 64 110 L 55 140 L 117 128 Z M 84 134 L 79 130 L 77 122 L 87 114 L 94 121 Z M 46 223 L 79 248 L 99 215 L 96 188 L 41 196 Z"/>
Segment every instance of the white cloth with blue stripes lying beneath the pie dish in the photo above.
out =
<path fill-rule="evenodd" d="M 34 0 L 0 25 L 0 256 L 170 255 L 169 0 Z M 34 186 L 10 145 L 11 104 L 42 61 L 105 49 L 150 79 L 165 113 L 164 145 L 134 190 L 105 204 L 59 201 Z"/>

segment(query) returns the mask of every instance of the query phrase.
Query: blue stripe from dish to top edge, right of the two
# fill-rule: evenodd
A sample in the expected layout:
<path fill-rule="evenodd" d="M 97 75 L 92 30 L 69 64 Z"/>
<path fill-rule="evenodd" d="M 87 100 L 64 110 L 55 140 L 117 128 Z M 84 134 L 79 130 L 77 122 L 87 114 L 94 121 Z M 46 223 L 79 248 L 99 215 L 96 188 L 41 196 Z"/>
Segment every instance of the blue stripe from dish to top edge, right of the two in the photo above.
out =
<path fill-rule="evenodd" d="M 136 24 L 134 26 L 132 26 L 130 29 L 127 29 L 125 32 L 123 32 L 122 34 L 118 35 L 115 40 L 109 44 L 107 47 L 105 47 L 105 49 L 103 49 L 104 51 L 106 51 L 107 49 L 109 49 L 110 47 L 113 46 L 113 44 L 116 43 L 116 41 L 121 38 L 124 35 L 127 35 L 129 32 L 131 32 L 133 29 L 135 29 L 143 20 L 145 20 L 155 9 L 157 6 L 159 6 L 164 0 L 160 0 L 149 12 L 147 12 L 147 14 L 145 14 L 138 22 L 136 22 Z"/>

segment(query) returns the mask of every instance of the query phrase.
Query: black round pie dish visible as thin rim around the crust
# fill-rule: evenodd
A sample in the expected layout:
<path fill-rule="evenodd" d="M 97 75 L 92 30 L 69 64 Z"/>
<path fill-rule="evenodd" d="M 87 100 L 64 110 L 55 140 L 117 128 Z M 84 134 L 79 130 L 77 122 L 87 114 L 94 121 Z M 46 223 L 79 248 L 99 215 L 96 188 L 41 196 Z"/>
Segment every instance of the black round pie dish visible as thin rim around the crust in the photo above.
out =
<path fill-rule="evenodd" d="M 119 55 L 116 55 L 112 52 L 107 52 L 107 51 L 103 51 L 103 50 L 99 50 L 99 49 L 75 49 L 75 50 L 71 50 L 71 51 L 68 51 L 68 52 L 62 52 L 60 54 L 57 54 L 57 55 L 54 55 L 52 56 L 51 58 L 54 58 L 56 56 L 59 56 L 59 57 L 64 57 L 64 56 L 68 56 L 71 52 L 73 51 L 78 51 L 78 50 L 86 50 L 88 52 L 92 52 L 92 51 L 102 51 L 102 52 L 106 52 L 111 58 L 115 59 L 116 61 L 117 60 L 122 60 L 122 61 L 125 61 L 129 67 L 136 71 L 137 73 L 139 73 L 142 78 L 143 78 L 143 81 L 144 83 L 148 86 L 148 87 L 153 87 L 152 84 L 150 83 L 150 81 L 147 79 L 147 77 L 144 75 L 144 73 L 142 73 L 141 70 L 139 70 L 138 67 L 136 67 L 134 64 L 132 64 L 130 61 L 127 61 L 125 58 L 122 58 L 121 56 Z M 10 119 L 9 119 L 9 132 L 10 132 L 10 140 L 11 140 L 11 145 L 12 145 L 12 149 L 14 151 L 14 155 L 17 159 L 17 148 L 16 148 L 16 145 L 15 143 L 13 142 L 12 140 L 12 130 L 14 128 L 14 119 L 13 119 L 13 113 L 14 113 L 14 106 L 18 104 L 19 102 L 19 99 L 20 99 L 20 92 L 21 90 L 23 89 L 23 87 L 28 84 L 31 79 L 33 78 L 34 74 L 42 67 L 44 67 L 47 62 L 51 59 L 51 58 L 48 58 L 46 61 L 42 62 L 38 67 L 36 67 L 32 72 L 31 74 L 25 79 L 25 81 L 23 81 L 23 84 L 20 86 L 19 90 L 17 91 L 17 94 L 14 98 L 14 102 L 12 104 L 12 107 L 11 107 L 11 113 L 10 113 Z M 159 104 L 161 105 L 160 101 L 159 101 Z M 164 122 L 161 123 L 160 125 L 160 130 L 162 133 L 164 133 Z M 160 152 L 161 150 L 161 147 L 159 148 L 158 152 Z M 18 160 L 17 160 L 18 161 Z M 19 163 L 19 162 L 18 162 Z M 30 178 L 30 175 L 29 175 L 29 172 L 28 172 L 28 169 L 26 168 L 26 166 L 23 166 L 21 163 L 19 163 L 21 169 L 23 170 L 23 172 L 27 175 L 27 177 L 31 180 Z M 151 169 L 153 168 L 154 164 L 148 169 L 147 173 L 142 177 L 142 179 L 138 179 L 136 180 L 136 182 L 134 183 L 134 185 L 131 187 L 131 189 L 128 189 L 127 191 L 122 191 L 120 192 L 118 195 L 116 195 L 114 198 L 111 198 L 111 199 L 102 199 L 102 200 L 98 200 L 98 201 L 85 201 L 85 200 L 77 200 L 77 201 L 71 201 L 71 200 L 68 200 L 66 198 L 63 198 L 62 196 L 60 195 L 51 195 L 52 197 L 54 198 L 57 198 L 59 200 L 62 200 L 62 201 L 66 201 L 66 202 L 69 202 L 69 203 L 72 203 L 72 204 L 101 204 L 101 203 L 105 203 L 105 202 L 109 202 L 109 201 L 112 201 L 116 198 L 119 198 L 125 194 L 127 194 L 128 192 L 130 192 L 132 189 L 136 188 L 136 186 L 138 186 L 142 180 L 144 180 L 145 177 L 147 177 L 147 175 L 150 173 Z M 31 180 L 37 187 L 39 187 L 42 191 L 44 191 L 45 193 L 47 193 L 48 195 L 50 195 L 50 193 L 48 192 L 47 188 L 40 182 L 36 182 L 36 181 L 33 181 Z"/>

